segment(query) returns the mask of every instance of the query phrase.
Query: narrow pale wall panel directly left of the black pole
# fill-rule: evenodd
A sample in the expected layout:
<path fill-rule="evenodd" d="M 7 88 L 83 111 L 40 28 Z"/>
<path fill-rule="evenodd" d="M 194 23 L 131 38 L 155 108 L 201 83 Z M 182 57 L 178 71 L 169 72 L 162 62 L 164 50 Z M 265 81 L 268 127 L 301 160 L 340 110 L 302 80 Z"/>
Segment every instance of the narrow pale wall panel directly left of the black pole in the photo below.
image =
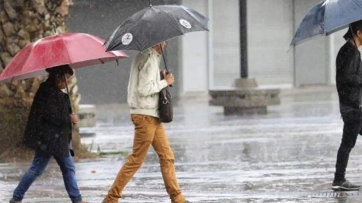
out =
<path fill-rule="evenodd" d="M 212 0 L 213 86 L 240 77 L 239 0 Z"/>

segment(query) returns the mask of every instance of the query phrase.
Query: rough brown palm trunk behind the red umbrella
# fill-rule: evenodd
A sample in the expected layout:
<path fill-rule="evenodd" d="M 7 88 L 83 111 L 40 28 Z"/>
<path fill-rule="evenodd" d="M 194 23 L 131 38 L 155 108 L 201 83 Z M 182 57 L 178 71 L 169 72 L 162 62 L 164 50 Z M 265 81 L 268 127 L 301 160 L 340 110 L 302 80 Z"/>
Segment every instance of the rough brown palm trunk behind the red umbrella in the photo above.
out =
<path fill-rule="evenodd" d="M 66 17 L 72 0 L 0 0 L 0 73 L 12 57 L 31 42 L 67 31 Z M 41 78 L 0 84 L 0 160 L 22 161 L 33 152 L 20 143 Z M 75 104 L 77 96 L 71 95 Z M 77 104 L 74 113 L 77 113 Z M 80 141 L 79 128 L 73 129 L 76 159 L 92 157 Z"/>

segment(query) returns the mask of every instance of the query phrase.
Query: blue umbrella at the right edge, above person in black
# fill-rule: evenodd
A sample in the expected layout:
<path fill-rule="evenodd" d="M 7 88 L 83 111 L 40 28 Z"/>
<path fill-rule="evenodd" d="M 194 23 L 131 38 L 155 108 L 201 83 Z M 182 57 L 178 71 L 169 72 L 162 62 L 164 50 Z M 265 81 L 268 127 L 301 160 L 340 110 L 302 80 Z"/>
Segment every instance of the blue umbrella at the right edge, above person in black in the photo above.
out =
<path fill-rule="evenodd" d="M 358 20 L 362 20 L 362 0 L 324 0 L 304 17 L 291 45 L 316 35 L 329 35 Z"/>

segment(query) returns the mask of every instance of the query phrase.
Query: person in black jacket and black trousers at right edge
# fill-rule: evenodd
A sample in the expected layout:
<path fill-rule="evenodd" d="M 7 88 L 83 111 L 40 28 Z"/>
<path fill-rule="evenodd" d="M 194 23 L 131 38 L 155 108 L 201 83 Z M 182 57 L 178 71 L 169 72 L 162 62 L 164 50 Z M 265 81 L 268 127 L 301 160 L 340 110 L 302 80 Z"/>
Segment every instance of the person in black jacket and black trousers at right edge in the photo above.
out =
<path fill-rule="evenodd" d="M 347 42 L 341 47 L 336 60 L 337 92 L 344 122 L 332 183 L 332 189 L 336 191 L 361 189 L 360 185 L 351 184 L 345 179 L 345 172 L 349 153 L 362 129 L 362 62 L 358 51 L 358 47 L 362 45 L 362 21 L 352 23 L 344 38 Z"/>

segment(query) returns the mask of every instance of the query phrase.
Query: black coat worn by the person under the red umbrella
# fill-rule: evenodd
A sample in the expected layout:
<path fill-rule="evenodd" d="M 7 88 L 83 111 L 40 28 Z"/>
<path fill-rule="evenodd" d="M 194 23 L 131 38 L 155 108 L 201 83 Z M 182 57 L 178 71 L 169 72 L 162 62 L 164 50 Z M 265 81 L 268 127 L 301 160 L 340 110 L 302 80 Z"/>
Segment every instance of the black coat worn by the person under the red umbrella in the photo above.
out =
<path fill-rule="evenodd" d="M 24 144 L 54 156 L 69 156 L 72 137 L 71 107 L 68 94 L 47 80 L 42 83 L 31 105 Z"/>

